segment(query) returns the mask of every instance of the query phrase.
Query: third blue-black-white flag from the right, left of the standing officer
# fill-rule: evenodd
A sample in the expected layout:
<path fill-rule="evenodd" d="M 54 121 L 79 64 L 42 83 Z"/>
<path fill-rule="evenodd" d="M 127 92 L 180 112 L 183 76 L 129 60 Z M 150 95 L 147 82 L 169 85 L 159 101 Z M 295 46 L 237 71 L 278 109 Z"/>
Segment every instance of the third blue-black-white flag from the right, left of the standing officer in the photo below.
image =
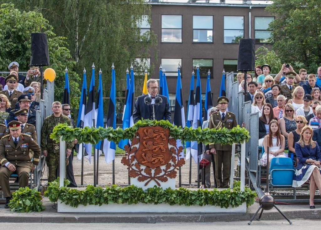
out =
<path fill-rule="evenodd" d="M 202 128 L 202 90 L 201 90 L 201 78 L 200 69 L 197 64 L 196 66 L 196 90 L 195 90 L 195 100 L 194 100 L 194 115 L 193 115 L 193 128 Z M 202 144 L 196 141 L 191 142 L 191 155 L 197 163 L 197 156 L 202 156 Z"/>

